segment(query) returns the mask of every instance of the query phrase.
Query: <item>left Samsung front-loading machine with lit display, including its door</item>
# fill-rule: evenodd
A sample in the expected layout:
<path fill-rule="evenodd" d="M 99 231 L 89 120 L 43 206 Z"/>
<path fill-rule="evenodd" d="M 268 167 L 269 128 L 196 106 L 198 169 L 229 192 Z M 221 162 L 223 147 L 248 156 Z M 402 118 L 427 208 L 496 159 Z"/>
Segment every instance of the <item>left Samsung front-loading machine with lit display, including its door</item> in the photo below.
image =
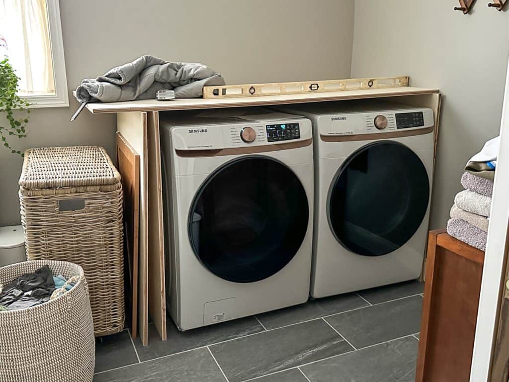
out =
<path fill-rule="evenodd" d="M 161 115 L 167 308 L 178 328 L 307 301 L 311 122 L 264 108 Z"/>

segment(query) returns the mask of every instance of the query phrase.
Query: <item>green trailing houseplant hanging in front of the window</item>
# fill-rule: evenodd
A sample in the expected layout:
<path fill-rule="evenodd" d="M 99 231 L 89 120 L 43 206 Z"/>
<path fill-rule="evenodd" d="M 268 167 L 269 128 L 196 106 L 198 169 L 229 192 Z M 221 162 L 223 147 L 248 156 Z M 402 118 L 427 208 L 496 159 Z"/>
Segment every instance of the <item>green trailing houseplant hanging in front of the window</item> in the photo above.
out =
<path fill-rule="evenodd" d="M 19 77 L 9 64 L 9 59 L 2 60 L 0 62 L 0 113 L 4 114 L 9 124 L 0 125 L 0 139 L 11 153 L 23 156 L 20 151 L 11 147 L 6 138 L 12 135 L 17 138 L 26 137 L 25 126 L 29 121 L 30 102 L 16 94 L 18 81 Z"/>

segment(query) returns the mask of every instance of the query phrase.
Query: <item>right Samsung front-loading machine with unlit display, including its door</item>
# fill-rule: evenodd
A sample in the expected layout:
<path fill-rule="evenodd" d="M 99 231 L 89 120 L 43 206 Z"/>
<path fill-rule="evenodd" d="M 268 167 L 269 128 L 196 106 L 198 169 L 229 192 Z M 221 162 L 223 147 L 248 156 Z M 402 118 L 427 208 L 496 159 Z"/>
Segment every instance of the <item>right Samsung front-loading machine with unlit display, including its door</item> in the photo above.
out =
<path fill-rule="evenodd" d="M 433 111 L 366 100 L 283 110 L 314 125 L 310 294 L 325 297 L 418 278 L 430 212 Z"/>

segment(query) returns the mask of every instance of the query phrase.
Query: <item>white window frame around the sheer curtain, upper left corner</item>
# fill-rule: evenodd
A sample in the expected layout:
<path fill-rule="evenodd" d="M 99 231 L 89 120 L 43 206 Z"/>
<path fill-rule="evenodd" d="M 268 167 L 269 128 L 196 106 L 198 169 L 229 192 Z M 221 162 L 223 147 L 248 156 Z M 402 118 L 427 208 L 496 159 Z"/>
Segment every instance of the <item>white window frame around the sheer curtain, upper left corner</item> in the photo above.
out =
<path fill-rule="evenodd" d="M 69 106 L 59 0 L 46 0 L 46 7 L 48 10 L 48 30 L 55 94 L 21 95 L 22 98 L 32 103 L 31 108 Z"/>

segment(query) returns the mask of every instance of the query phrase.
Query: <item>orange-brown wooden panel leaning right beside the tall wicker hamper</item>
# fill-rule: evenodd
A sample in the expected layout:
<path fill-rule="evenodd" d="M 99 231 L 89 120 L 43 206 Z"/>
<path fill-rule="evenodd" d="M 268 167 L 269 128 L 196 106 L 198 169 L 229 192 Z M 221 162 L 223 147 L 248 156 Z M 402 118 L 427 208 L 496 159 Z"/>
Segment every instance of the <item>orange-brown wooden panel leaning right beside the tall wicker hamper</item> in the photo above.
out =
<path fill-rule="evenodd" d="M 117 163 L 124 197 L 125 243 L 131 287 L 131 335 L 138 336 L 139 154 L 117 132 Z"/>

